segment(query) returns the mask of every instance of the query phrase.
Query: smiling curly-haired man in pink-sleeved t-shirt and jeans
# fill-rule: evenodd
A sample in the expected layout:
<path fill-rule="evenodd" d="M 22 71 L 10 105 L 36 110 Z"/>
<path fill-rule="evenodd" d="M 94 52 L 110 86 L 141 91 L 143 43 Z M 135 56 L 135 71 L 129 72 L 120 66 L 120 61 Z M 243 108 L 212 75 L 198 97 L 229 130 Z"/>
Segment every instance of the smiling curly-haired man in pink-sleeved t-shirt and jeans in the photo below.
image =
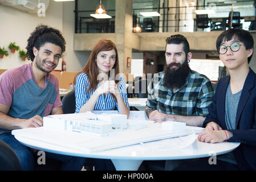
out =
<path fill-rule="evenodd" d="M 39 25 L 27 40 L 30 64 L 9 69 L 0 76 L 0 139 L 17 154 L 23 170 L 34 169 L 33 151 L 11 135 L 11 130 L 43 126 L 43 117 L 63 114 L 59 83 L 50 72 L 65 51 L 65 39 L 55 28 Z M 60 160 L 63 170 L 80 170 L 84 159 L 46 152 Z"/>

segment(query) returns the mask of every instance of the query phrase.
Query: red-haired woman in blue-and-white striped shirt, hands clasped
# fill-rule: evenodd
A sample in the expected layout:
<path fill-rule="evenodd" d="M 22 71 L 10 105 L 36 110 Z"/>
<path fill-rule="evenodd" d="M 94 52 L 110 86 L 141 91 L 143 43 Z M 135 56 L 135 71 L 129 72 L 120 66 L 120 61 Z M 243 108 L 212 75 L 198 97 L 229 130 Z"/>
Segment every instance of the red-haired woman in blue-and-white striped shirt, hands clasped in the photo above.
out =
<path fill-rule="evenodd" d="M 119 74 L 118 53 L 111 40 L 101 39 L 95 44 L 74 84 L 76 113 L 113 110 L 117 106 L 119 114 L 129 116 L 125 80 Z"/>

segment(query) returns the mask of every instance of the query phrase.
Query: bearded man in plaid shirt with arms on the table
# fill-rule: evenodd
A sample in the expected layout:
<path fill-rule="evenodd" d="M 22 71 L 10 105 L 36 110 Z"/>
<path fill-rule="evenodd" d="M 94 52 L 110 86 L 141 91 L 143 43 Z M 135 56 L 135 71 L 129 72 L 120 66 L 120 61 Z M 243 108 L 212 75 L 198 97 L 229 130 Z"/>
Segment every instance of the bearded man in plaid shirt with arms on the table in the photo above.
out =
<path fill-rule="evenodd" d="M 166 67 L 155 74 L 148 86 L 145 111 L 151 121 L 202 126 L 214 90 L 208 77 L 189 68 L 191 58 L 189 43 L 184 36 L 177 34 L 166 39 Z"/>

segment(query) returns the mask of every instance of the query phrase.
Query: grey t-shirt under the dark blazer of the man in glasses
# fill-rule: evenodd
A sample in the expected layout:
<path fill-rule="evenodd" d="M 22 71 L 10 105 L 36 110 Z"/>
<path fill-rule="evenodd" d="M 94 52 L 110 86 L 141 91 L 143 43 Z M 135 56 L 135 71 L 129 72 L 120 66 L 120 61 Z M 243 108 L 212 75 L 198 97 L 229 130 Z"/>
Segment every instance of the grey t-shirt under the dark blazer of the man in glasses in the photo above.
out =
<path fill-rule="evenodd" d="M 225 121 L 228 130 L 235 130 L 235 118 L 237 117 L 237 107 L 240 100 L 242 90 L 232 94 L 229 86 L 227 86 L 226 100 L 225 100 Z M 237 164 L 232 152 L 217 156 L 217 159 L 225 162 Z"/>

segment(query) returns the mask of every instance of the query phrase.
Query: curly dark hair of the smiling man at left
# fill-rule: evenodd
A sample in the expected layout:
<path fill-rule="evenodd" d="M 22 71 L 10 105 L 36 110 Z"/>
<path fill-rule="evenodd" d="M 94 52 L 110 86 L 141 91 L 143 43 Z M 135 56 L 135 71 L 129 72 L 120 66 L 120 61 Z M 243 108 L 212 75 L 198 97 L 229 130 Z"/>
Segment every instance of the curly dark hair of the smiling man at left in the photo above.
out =
<path fill-rule="evenodd" d="M 31 61 L 34 61 L 35 55 L 33 53 L 33 47 L 40 49 L 45 43 L 52 43 L 59 46 L 62 49 L 62 53 L 66 50 L 66 41 L 63 38 L 59 30 L 40 24 L 31 33 L 29 39 L 27 39 L 27 57 Z"/>

